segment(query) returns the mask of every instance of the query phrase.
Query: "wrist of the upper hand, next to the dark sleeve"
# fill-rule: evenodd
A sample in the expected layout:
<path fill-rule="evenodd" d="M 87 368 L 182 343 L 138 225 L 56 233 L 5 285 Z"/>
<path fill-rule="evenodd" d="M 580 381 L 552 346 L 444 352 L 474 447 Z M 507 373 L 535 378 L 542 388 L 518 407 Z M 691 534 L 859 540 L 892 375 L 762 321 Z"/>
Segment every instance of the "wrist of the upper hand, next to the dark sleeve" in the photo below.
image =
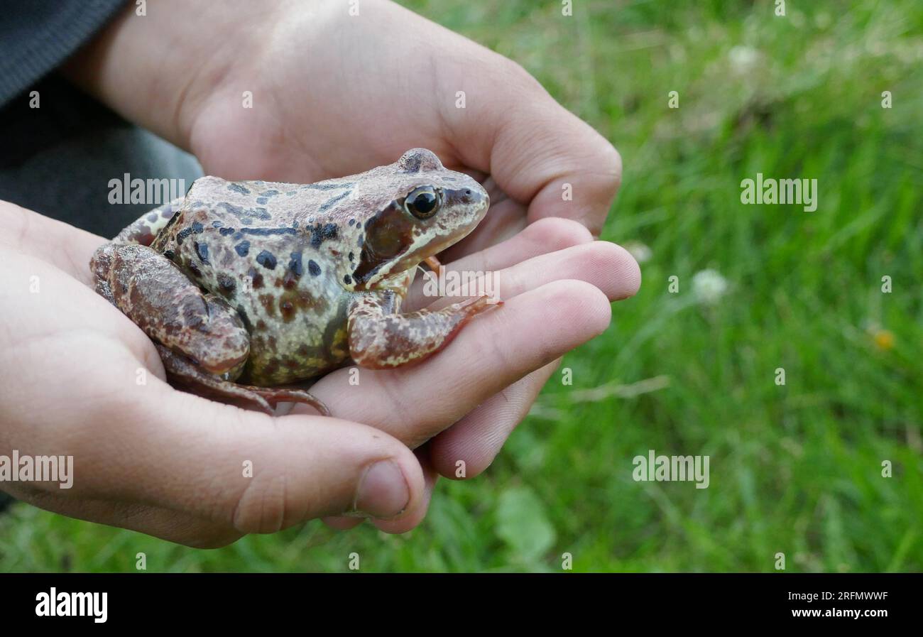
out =
<path fill-rule="evenodd" d="M 282 3 L 162 0 L 126 6 L 62 72 L 127 120 L 190 149 L 202 105 Z"/>

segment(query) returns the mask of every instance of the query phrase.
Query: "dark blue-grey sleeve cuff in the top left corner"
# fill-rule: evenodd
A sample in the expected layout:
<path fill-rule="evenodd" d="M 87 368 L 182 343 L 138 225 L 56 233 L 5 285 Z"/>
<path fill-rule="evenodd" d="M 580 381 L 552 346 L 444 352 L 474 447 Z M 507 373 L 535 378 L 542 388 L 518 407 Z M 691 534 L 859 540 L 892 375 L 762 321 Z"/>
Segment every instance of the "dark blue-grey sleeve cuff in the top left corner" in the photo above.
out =
<path fill-rule="evenodd" d="M 63 63 L 126 0 L 0 0 L 0 106 Z"/>

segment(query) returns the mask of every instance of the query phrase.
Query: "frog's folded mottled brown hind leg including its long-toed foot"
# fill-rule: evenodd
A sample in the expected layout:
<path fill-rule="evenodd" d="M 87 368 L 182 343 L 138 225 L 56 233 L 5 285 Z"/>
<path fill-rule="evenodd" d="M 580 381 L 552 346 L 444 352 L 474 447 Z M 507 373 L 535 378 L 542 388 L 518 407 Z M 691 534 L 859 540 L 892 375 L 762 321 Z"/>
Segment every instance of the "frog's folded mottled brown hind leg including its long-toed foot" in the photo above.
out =
<path fill-rule="evenodd" d="M 97 292 L 158 343 L 172 382 L 270 415 L 270 403 L 282 401 L 307 403 L 329 414 L 306 391 L 232 382 L 250 353 L 250 336 L 243 321 L 222 297 L 203 294 L 156 250 L 138 244 L 105 244 L 93 255 L 90 268 Z"/>

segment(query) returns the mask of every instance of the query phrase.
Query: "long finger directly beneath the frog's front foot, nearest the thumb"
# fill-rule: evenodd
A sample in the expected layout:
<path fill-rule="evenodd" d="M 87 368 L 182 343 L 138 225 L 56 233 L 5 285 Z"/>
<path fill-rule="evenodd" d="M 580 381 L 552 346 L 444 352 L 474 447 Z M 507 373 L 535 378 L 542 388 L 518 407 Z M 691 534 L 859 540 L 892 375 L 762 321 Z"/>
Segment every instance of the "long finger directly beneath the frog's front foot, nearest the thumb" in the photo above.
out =
<path fill-rule="evenodd" d="M 312 393 L 334 414 L 416 447 L 497 391 L 605 331 L 610 317 L 608 300 L 594 285 L 550 282 L 477 317 L 420 365 L 363 369 L 358 385 L 342 369 L 318 381 Z M 448 379 L 452 391 L 434 387 L 434 379 Z"/>

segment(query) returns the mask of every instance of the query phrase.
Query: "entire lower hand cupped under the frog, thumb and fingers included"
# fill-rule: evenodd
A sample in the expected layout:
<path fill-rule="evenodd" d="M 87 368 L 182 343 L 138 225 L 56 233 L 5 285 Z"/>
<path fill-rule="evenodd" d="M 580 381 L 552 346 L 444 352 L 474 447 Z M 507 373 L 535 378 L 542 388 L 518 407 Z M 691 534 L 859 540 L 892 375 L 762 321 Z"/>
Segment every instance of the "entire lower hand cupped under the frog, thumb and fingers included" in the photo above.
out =
<path fill-rule="evenodd" d="M 321 379 L 312 391 L 334 418 L 271 418 L 164 381 L 148 337 L 90 288 L 85 264 L 101 237 L 0 208 L 0 294 L 16 308 L 0 318 L 0 449 L 75 463 L 70 489 L 7 487 L 51 511 L 192 546 L 345 511 L 413 528 L 436 470 L 455 475 L 461 460 L 467 475 L 482 471 L 555 359 L 605 330 L 608 301 L 637 286 L 621 248 L 581 242 L 574 222 L 534 223 L 450 264 L 498 270 L 505 303 L 445 350 L 414 367 L 361 369 L 358 384 L 348 369 Z M 408 304 L 426 300 L 417 286 Z M 524 398 L 495 396 L 511 383 Z M 416 456 L 408 449 L 428 439 Z"/>

